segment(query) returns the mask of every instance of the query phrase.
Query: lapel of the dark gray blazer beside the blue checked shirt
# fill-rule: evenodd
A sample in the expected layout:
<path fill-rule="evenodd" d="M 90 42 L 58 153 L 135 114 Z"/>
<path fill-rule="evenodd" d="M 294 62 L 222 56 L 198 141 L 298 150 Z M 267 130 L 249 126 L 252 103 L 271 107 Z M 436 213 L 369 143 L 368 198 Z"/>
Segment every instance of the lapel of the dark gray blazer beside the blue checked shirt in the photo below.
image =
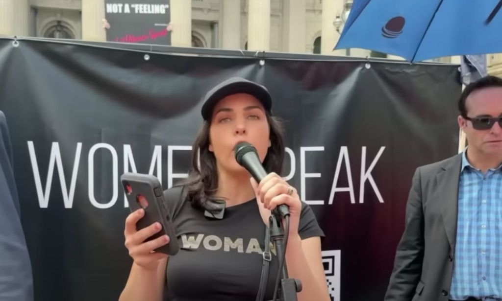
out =
<path fill-rule="evenodd" d="M 455 250 L 457 235 L 458 216 L 458 182 L 460 179 L 460 168 L 462 165 L 462 154 L 451 160 L 447 160 L 437 174 L 439 200 L 442 202 L 441 214 L 446 230 L 446 236 L 450 242 L 452 250 Z"/>

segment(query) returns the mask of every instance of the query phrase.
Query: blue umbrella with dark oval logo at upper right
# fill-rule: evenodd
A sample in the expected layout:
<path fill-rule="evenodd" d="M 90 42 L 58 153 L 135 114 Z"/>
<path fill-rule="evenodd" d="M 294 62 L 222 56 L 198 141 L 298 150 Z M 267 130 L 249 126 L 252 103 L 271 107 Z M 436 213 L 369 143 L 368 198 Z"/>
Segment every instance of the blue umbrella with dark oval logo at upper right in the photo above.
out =
<path fill-rule="evenodd" d="M 410 62 L 502 52 L 502 0 L 354 0 L 335 49 Z"/>

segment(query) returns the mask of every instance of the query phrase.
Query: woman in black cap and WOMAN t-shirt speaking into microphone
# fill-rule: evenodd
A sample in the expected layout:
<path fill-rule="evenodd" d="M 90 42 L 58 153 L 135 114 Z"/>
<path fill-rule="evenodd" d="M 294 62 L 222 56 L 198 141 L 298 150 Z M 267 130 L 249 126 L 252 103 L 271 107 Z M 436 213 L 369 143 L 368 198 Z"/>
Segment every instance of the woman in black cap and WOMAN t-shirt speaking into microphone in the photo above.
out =
<path fill-rule="evenodd" d="M 297 298 L 329 300 L 321 258 L 324 234 L 311 208 L 280 176 L 284 131 L 271 107 L 265 87 L 241 78 L 226 80 L 207 93 L 183 197 L 166 199 L 178 237 L 145 241 L 160 224 L 137 231 L 144 211 L 127 217 L 125 244 L 134 262 L 120 301 L 254 301 L 261 299 L 260 290 L 263 300 L 271 300 L 279 264 L 266 237 L 271 210 L 281 204 L 290 212 L 286 264 L 289 277 L 302 283 Z M 234 147 L 240 142 L 252 144 L 258 152 L 268 173 L 260 183 L 235 159 Z M 207 214 L 214 204 L 224 208 Z M 180 243 L 176 255 L 153 251 L 170 239 Z M 271 258 L 264 255 L 269 248 Z M 262 276 L 264 260 L 270 260 L 270 269 Z"/>

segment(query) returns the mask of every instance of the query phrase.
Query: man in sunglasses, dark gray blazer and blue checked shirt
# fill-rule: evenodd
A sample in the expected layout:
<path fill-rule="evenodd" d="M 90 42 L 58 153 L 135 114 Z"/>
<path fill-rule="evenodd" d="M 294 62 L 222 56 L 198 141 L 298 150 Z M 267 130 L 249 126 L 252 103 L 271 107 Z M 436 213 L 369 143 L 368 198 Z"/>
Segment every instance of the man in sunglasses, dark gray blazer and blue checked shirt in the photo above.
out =
<path fill-rule="evenodd" d="M 502 79 L 458 106 L 468 147 L 416 170 L 386 301 L 502 301 Z"/>

